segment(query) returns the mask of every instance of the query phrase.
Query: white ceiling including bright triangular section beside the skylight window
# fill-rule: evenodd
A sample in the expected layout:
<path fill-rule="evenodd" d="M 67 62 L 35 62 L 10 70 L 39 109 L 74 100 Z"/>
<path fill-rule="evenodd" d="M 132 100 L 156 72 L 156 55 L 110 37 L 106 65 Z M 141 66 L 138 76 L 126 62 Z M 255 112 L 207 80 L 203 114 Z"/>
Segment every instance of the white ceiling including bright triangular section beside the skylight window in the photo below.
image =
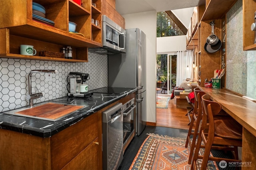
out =
<path fill-rule="evenodd" d="M 190 7 L 198 6 L 199 1 L 200 0 L 116 0 L 116 10 L 121 15 L 152 10 L 156 10 L 156 12 L 173 10 L 172 12 L 176 17 L 188 28 L 190 18 L 193 14 L 193 8 Z"/>

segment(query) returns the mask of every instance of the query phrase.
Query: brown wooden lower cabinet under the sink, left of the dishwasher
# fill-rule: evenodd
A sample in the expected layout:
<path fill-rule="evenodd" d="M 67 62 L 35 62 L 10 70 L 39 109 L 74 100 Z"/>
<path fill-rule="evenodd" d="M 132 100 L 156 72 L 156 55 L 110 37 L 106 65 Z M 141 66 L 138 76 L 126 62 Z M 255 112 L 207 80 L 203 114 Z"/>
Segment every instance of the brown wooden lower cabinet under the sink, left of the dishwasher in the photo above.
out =
<path fill-rule="evenodd" d="M 102 169 L 102 113 L 49 138 L 0 129 L 0 169 Z"/>

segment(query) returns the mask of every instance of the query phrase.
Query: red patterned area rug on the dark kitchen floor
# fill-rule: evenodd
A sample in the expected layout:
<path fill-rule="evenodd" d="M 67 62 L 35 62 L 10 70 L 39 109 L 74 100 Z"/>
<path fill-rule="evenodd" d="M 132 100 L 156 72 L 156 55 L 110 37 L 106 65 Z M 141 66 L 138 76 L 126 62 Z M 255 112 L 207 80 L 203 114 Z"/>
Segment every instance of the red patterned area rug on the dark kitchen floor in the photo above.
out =
<path fill-rule="evenodd" d="M 189 148 L 186 139 L 150 133 L 140 147 L 129 170 L 190 170 L 188 164 Z M 200 154 L 203 150 L 200 149 Z M 200 169 L 202 160 L 197 161 Z M 208 161 L 207 170 L 218 170 L 214 161 Z"/>

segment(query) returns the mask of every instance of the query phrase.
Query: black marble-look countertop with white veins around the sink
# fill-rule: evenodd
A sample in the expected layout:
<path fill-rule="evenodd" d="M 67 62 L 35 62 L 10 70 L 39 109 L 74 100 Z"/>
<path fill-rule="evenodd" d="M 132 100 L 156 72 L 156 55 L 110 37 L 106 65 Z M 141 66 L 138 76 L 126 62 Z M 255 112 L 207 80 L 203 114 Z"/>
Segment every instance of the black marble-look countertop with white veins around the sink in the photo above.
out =
<path fill-rule="evenodd" d="M 84 101 L 84 105 L 88 105 L 81 110 L 76 111 L 70 115 L 62 117 L 56 121 L 37 119 L 31 117 L 24 117 L 19 115 L 10 115 L 0 113 L 0 129 L 6 129 L 16 131 L 20 133 L 26 133 L 38 137 L 51 137 L 52 135 L 74 125 L 80 120 L 92 115 L 93 113 L 103 109 L 104 107 L 136 92 L 136 88 L 129 88 L 130 90 L 124 91 L 120 94 L 108 94 L 94 92 L 92 97 L 80 98 Z M 94 90 L 91 90 L 92 92 Z M 68 99 L 70 97 L 62 97 L 54 100 Z M 54 100 L 49 100 L 51 102 Z"/>

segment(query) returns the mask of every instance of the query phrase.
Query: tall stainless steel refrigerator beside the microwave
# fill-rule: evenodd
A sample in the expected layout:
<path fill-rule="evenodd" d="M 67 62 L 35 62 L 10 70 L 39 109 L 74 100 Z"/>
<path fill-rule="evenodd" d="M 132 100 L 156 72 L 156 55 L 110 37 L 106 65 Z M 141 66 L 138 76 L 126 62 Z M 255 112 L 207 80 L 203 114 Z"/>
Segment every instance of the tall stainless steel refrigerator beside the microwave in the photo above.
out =
<path fill-rule="evenodd" d="M 109 87 L 137 88 L 136 135 L 146 127 L 146 35 L 126 29 L 126 53 L 108 55 Z"/>

